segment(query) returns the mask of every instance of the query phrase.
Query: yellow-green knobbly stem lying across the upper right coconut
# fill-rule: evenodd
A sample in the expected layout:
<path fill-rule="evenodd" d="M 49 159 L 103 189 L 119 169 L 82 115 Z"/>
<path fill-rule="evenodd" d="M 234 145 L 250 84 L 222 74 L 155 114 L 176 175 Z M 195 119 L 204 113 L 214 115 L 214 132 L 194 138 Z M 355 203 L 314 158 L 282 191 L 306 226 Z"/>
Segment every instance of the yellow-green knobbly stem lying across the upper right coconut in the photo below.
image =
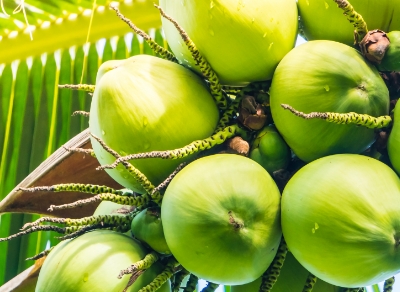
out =
<path fill-rule="evenodd" d="M 392 118 L 390 116 L 372 117 L 367 114 L 350 113 L 332 113 L 332 112 L 311 112 L 305 114 L 290 105 L 281 104 L 284 109 L 291 111 L 294 115 L 303 119 L 321 119 L 335 124 L 359 125 L 369 129 L 380 129 L 391 125 Z"/>

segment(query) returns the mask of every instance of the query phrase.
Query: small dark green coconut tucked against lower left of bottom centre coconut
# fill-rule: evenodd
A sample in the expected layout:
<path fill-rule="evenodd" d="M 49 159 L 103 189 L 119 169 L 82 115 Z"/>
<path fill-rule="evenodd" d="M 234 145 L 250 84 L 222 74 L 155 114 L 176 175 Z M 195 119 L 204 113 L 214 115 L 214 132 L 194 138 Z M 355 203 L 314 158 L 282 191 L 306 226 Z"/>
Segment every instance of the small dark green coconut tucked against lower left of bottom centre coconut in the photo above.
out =
<path fill-rule="evenodd" d="M 161 214 L 158 208 L 147 208 L 137 214 L 132 220 L 131 231 L 136 239 L 150 246 L 156 252 L 171 253 L 165 241 Z"/>

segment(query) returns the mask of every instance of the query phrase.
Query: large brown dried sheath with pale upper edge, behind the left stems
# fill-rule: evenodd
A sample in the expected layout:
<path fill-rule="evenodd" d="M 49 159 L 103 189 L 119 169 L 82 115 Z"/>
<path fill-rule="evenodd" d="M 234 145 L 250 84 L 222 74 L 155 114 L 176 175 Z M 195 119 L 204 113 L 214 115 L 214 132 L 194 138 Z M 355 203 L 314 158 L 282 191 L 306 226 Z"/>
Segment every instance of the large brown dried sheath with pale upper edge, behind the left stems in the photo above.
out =
<path fill-rule="evenodd" d="M 85 130 L 69 140 L 67 148 L 92 148 L 89 130 Z M 84 183 L 106 185 L 122 189 L 105 171 L 96 170 L 99 163 L 88 154 L 74 153 L 63 147 L 55 151 L 49 158 L 29 174 L 14 190 L 0 202 L 2 213 L 35 213 L 63 218 L 82 218 L 91 216 L 98 204 L 89 204 L 80 208 L 47 211 L 50 205 L 72 203 L 92 197 L 91 194 L 78 192 L 25 192 L 19 188 L 35 186 L 51 186 L 61 183 Z"/>

